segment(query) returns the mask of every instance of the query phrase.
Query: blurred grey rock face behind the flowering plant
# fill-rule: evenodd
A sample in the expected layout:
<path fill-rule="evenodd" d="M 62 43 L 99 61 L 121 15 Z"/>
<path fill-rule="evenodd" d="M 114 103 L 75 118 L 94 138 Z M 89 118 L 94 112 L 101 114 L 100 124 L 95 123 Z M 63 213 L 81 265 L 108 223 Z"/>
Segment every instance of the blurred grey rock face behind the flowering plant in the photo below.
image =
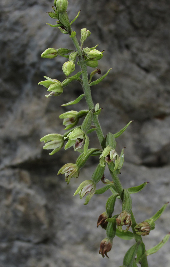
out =
<path fill-rule="evenodd" d="M 131 241 L 115 237 L 110 259 L 98 254 L 105 231 L 96 228 L 109 196 L 95 195 L 87 206 L 73 193 L 90 179 L 98 159 L 92 158 L 78 179 L 67 185 L 57 176 L 77 153 L 63 149 L 53 156 L 42 150 L 40 138 L 63 133 L 58 116 L 70 109 L 61 104 L 82 93 L 71 83 L 59 97 L 45 98 L 38 86 L 46 75 L 63 80 L 64 58 L 44 59 L 48 47 L 73 47 L 47 11 L 51 0 L 1 0 L 0 3 L 0 267 L 118 267 Z M 117 140 L 125 149 L 120 175 L 124 187 L 150 182 L 132 196 L 137 222 L 151 217 L 170 201 L 170 2 L 169 0 L 70 0 L 68 15 L 79 37 L 86 27 L 86 46 L 100 44 L 99 61 L 107 78 L 92 88 L 94 102 L 103 107 L 100 122 L 106 135 L 134 122 Z M 90 70 L 89 70 L 90 71 Z M 80 104 L 81 103 L 81 104 Z M 72 109 L 86 109 L 85 100 Z M 91 134 L 93 146 L 98 146 Z M 105 177 L 109 179 L 106 170 Z M 102 184 L 100 185 L 102 186 Z M 117 201 L 116 214 L 121 211 Z M 146 249 L 170 231 L 170 207 L 144 237 Z M 168 267 L 170 243 L 148 257 L 149 266 Z"/>

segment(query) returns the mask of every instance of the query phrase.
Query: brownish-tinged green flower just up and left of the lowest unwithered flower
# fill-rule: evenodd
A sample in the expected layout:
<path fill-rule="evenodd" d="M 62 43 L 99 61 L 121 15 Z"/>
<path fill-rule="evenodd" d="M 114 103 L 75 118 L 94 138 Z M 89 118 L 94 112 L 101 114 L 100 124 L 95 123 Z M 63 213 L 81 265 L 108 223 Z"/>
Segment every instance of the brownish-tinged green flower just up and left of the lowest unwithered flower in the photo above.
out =
<path fill-rule="evenodd" d="M 71 178 L 79 177 L 79 167 L 73 163 L 65 164 L 59 171 L 58 174 L 65 174 L 65 181 L 69 184 Z"/>

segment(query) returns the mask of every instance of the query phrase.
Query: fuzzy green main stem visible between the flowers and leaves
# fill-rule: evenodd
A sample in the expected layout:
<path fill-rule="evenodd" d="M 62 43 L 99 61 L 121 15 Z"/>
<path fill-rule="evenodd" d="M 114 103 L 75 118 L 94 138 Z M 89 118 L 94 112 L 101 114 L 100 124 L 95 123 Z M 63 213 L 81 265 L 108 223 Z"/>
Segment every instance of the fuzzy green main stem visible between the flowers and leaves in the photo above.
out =
<path fill-rule="evenodd" d="M 79 58 L 79 63 L 80 63 L 81 70 L 83 71 L 83 73 L 82 73 L 82 81 L 83 81 L 83 91 L 84 91 L 84 95 L 85 95 L 85 98 L 86 98 L 86 102 L 87 102 L 87 105 L 89 107 L 89 110 L 90 109 L 94 109 L 94 103 L 93 103 L 93 99 L 91 97 L 91 90 L 90 90 L 90 86 L 89 86 L 86 62 L 84 61 L 82 50 L 81 50 L 81 47 L 79 45 L 79 42 L 77 41 L 76 36 L 72 37 L 71 39 L 72 39 L 72 41 L 73 41 L 73 43 L 74 43 L 74 45 L 76 47 L 77 52 L 79 53 L 78 58 Z M 103 131 L 102 131 L 101 125 L 99 123 L 97 115 L 93 116 L 93 122 L 94 122 L 94 125 L 96 126 L 96 132 L 97 132 L 97 136 L 98 136 L 99 142 L 100 142 L 100 144 L 102 146 L 102 149 L 104 149 L 105 148 L 104 134 L 103 134 Z M 117 192 L 118 192 L 121 200 L 123 201 L 123 187 L 122 187 L 122 184 L 121 184 L 121 182 L 119 180 L 119 177 L 117 176 L 117 174 L 115 174 L 112 171 L 110 171 L 110 174 L 111 174 L 112 179 L 114 181 L 114 185 L 115 185 L 115 187 L 117 189 Z M 133 230 L 133 233 L 134 233 L 134 236 L 135 236 L 135 241 L 136 242 L 137 241 L 141 241 L 142 242 L 141 236 L 138 236 L 135 233 L 135 230 L 134 230 L 134 227 L 136 225 L 136 221 L 135 221 L 135 217 L 133 215 L 133 212 L 131 212 L 131 220 L 132 220 L 132 230 Z M 148 267 L 146 254 L 143 255 L 143 257 L 142 257 L 142 259 L 140 261 L 140 264 L 141 264 L 141 267 Z"/>

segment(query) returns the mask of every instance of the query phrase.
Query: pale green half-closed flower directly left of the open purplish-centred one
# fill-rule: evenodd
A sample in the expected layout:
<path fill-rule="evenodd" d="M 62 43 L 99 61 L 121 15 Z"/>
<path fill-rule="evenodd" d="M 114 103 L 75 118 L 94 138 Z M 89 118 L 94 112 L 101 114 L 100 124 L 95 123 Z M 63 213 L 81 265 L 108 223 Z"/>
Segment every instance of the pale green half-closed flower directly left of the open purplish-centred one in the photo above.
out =
<path fill-rule="evenodd" d="M 47 134 L 40 139 L 40 142 L 43 141 L 44 143 L 46 143 L 43 146 L 43 149 L 53 149 L 53 151 L 49 153 L 49 155 L 53 155 L 54 153 L 58 152 L 64 145 L 64 139 L 61 134 Z"/>

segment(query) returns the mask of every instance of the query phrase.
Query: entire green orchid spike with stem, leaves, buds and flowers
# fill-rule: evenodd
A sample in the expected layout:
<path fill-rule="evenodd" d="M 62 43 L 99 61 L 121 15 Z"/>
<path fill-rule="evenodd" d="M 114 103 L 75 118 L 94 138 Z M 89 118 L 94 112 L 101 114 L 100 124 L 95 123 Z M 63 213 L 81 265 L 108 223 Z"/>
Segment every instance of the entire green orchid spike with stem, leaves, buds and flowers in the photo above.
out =
<path fill-rule="evenodd" d="M 48 48 L 41 55 L 43 58 L 51 59 L 57 56 L 68 58 L 68 61 L 63 64 L 63 73 L 66 75 L 66 78 L 63 82 L 60 82 L 56 79 L 44 76 L 46 80 L 39 82 L 39 84 L 48 88 L 47 91 L 50 93 L 46 95 L 46 97 L 49 97 L 61 95 L 61 93 L 63 93 L 63 88 L 75 80 L 80 82 L 83 94 L 76 98 L 76 100 L 70 101 L 62 106 L 77 104 L 83 97 L 85 97 L 88 109 L 81 110 L 79 112 L 71 110 L 61 114 L 59 118 L 63 119 L 63 125 L 66 126 L 65 130 L 67 130 L 65 134 L 48 134 L 42 137 L 40 141 L 45 142 L 43 147 L 44 149 L 52 149 L 50 155 L 53 155 L 55 152 L 61 150 L 64 144 L 65 150 L 73 146 L 75 151 L 80 152 L 76 163 L 66 163 L 58 171 L 58 174 L 65 174 L 67 184 L 69 184 L 71 178 L 79 177 L 81 168 L 91 156 L 99 158 L 99 164 L 94 170 L 91 180 L 82 182 L 74 193 L 74 195 L 79 194 L 80 199 L 86 195 L 84 204 L 88 204 L 94 194 L 102 194 L 106 190 L 110 190 L 111 192 L 111 196 L 108 198 L 106 203 L 106 211 L 99 216 L 97 221 L 97 227 L 101 225 L 101 227 L 106 230 L 106 238 L 101 241 L 99 254 L 101 254 L 102 257 L 105 255 L 107 256 L 107 253 L 112 249 L 113 238 L 115 235 L 121 239 L 134 239 L 135 243 L 126 252 L 123 258 L 123 265 L 121 267 L 136 267 L 138 263 L 141 267 L 148 267 L 147 256 L 158 251 L 158 249 L 160 249 L 168 241 L 170 233 L 168 233 L 159 244 L 147 251 L 145 250 L 142 236 L 148 235 L 150 231 L 155 228 L 155 221 L 160 217 L 169 202 L 164 204 L 162 208 L 150 219 L 138 224 L 136 223 L 132 212 L 132 200 L 130 194 L 138 193 L 148 184 L 148 182 L 131 188 L 122 187 L 118 174 L 120 173 L 120 169 L 122 168 L 124 161 L 124 149 L 122 149 L 121 154 L 118 155 L 115 140 L 126 130 L 132 121 L 130 121 L 118 133 L 108 133 L 106 137 L 104 136 L 98 120 L 101 108 L 99 108 L 98 103 L 94 106 L 93 99 L 91 97 L 91 86 L 97 85 L 101 82 L 111 69 L 109 69 L 102 77 L 91 82 L 92 77 L 95 74 L 100 75 L 101 71 L 100 69 L 95 69 L 89 76 L 87 67 L 96 68 L 98 66 L 98 61 L 103 57 L 104 51 L 100 52 L 97 50 L 96 48 L 98 45 L 92 48 L 84 48 L 84 42 L 91 34 L 86 28 L 81 29 L 81 40 L 79 44 L 76 38 L 76 32 L 72 30 L 71 25 L 78 18 L 80 12 L 70 23 L 66 12 L 67 7 L 67 0 L 54 0 L 54 12 L 48 12 L 48 15 L 50 15 L 53 19 L 57 19 L 57 24 L 47 24 L 51 27 L 57 27 L 63 34 L 68 34 L 73 41 L 75 50 L 67 48 Z M 75 63 L 77 59 L 80 71 L 71 76 L 71 73 L 75 71 Z M 82 125 L 77 125 L 79 119 L 82 117 L 84 117 Z M 99 148 L 88 148 L 89 134 L 92 131 L 96 131 L 97 133 L 100 144 Z M 106 165 L 109 168 L 112 181 L 104 179 L 104 170 Z M 104 183 L 104 187 L 96 190 L 96 185 L 99 181 Z M 114 215 L 114 207 L 117 198 L 122 201 L 122 211 L 120 211 L 120 214 Z M 122 227 L 126 227 L 126 229 L 123 229 Z M 130 227 L 132 228 L 132 232 L 129 231 Z"/>

